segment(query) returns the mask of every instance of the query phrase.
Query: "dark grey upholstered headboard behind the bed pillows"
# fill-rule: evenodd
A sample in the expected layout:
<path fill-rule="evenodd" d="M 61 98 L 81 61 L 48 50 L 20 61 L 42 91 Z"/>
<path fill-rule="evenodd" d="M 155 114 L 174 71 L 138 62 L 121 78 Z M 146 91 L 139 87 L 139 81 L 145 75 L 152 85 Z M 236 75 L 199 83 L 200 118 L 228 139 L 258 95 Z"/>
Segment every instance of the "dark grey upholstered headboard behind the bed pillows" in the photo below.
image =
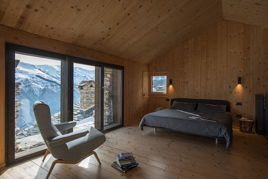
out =
<path fill-rule="evenodd" d="M 170 106 L 172 106 L 174 101 L 178 102 L 186 102 L 186 103 L 197 103 L 195 106 L 195 109 L 198 107 L 198 103 L 206 103 L 206 104 L 220 104 L 220 105 L 226 105 L 226 112 L 230 112 L 230 102 L 225 100 L 207 100 L 207 99 L 190 99 L 190 98 L 171 98 Z"/>

